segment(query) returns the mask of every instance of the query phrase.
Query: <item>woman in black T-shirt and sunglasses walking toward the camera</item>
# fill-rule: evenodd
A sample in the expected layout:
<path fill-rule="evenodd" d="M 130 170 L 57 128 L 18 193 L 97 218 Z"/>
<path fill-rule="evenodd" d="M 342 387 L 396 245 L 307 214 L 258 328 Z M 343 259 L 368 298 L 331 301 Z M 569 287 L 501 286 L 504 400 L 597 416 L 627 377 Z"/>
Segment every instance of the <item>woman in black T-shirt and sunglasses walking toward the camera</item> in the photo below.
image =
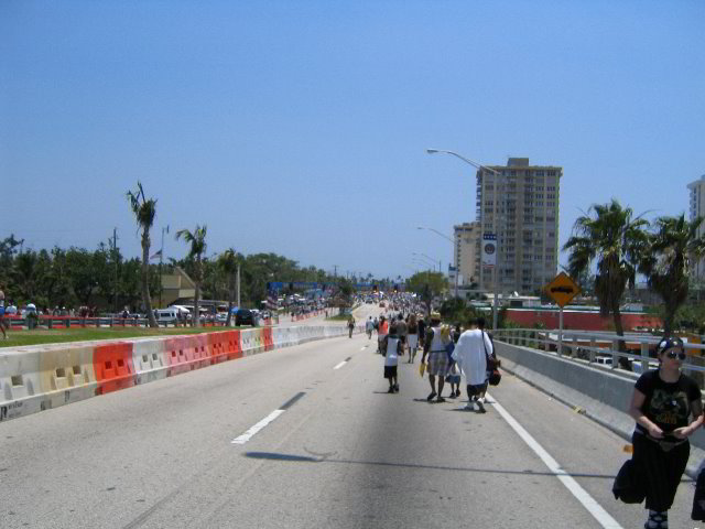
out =
<path fill-rule="evenodd" d="M 644 529 L 668 529 L 669 509 L 691 453 L 687 438 L 703 424 L 697 382 L 681 373 L 683 341 L 663 337 L 657 357 L 659 368 L 639 377 L 629 407 L 637 422 L 631 462 L 649 510 Z"/>

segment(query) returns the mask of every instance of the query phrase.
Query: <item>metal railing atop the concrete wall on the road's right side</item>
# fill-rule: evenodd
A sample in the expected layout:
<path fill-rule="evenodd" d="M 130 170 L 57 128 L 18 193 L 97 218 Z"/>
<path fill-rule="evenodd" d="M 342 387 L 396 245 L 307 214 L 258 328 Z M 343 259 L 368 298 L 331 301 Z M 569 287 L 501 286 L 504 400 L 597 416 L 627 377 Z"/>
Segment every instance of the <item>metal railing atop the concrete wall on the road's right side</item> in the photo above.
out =
<path fill-rule="evenodd" d="M 543 328 L 499 328 L 494 333 L 497 341 L 524 347 L 532 347 L 544 352 L 554 352 L 558 357 L 568 360 L 587 361 L 601 365 L 605 368 L 643 373 L 658 366 L 655 346 L 660 336 L 627 333 L 618 336 L 616 333 L 594 331 L 563 331 Z M 623 341 L 628 348 L 639 354 L 619 350 L 619 342 Z M 631 346 L 631 347 L 630 347 Z M 683 370 L 690 371 L 701 387 L 705 384 L 705 345 L 687 343 L 685 352 L 688 355 L 683 363 Z M 607 361 L 609 358 L 611 361 Z M 621 359 L 621 363 L 620 363 Z M 629 366 L 629 369 L 625 367 Z"/>

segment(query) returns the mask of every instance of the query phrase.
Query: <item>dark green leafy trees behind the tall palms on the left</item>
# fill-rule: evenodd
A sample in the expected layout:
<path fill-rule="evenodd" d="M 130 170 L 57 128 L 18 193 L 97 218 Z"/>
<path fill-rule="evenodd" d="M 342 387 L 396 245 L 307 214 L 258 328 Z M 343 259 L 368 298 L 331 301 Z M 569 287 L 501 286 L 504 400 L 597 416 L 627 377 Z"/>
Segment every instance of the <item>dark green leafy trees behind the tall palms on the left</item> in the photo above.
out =
<path fill-rule="evenodd" d="M 224 261 L 232 256 L 235 267 L 228 270 Z M 234 278 L 240 266 L 241 301 L 254 305 L 268 296 L 267 283 L 273 280 L 292 282 L 333 283 L 334 277 L 316 267 L 301 267 L 294 260 L 276 253 L 245 256 L 231 249 L 218 255 L 203 256 L 198 264 L 194 256 L 169 259 L 162 273 L 170 274 L 175 267 L 189 277 L 198 277 L 202 268 L 202 298 L 228 300 L 235 289 Z M 159 263 L 148 264 L 150 298 L 159 300 L 161 282 Z M 54 247 L 39 251 L 24 249 L 20 240 L 10 235 L 0 241 L 0 285 L 8 301 L 15 304 L 32 302 L 40 309 L 52 310 L 77 306 L 96 306 L 100 312 L 112 312 L 128 306 L 144 311 L 142 304 L 142 260 L 126 258 L 111 241 L 101 242 L 95 250 Z M 337 278 L 339 282 L 340 278 Z M 290 292 L 288 285 L 282 293 Z"/>

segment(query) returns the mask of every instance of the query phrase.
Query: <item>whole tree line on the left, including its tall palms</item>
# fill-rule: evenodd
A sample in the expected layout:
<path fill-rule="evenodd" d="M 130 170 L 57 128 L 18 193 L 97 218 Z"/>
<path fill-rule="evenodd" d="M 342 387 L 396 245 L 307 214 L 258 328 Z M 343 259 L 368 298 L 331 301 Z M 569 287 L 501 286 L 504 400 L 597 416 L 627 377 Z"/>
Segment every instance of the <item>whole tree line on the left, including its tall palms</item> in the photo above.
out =
<path fill-rule="evenodd" d="M 161 264 L 150 262 L 150 231 L 156 218 L 156 198 L 148 197 L 142 183 L 126 193 L 126 198 L 139 230 L 141 231 L 142 257 L 126 258 L 115 242 L 100 242 L 95 250 L 70 247 L 63 249 L 22 250 L 24 239 L 14 234 L 0 241 L 0 288 L 8 301 L 20 305 L 34 303 L 40 310 L 55 306 L 95 307 L 97 312 L 117 312 L 123 306 L 144 312 L 151 326 L 156 326 L 152 311 L 152 299 L 161 294 L 161 276 L 173 273 L 175 267 L 183 269 L 195 283 L 195 313 L 199 301 L 228 300 L 232 306 L 236 276 L 240 270 L 240 301 L 256 305 L 268 298 L 268 283 L 317 282 L 335 283 L 346 296 L 351 293 L 350 283 L 367 278 L 344 280 L 316 267 L 300 267 L 294 260 L 276 253 L 245 256 L 235 248 L 218 255 L 207 253 L 207 226 L 176 231 L 176 240 L 187 245 L 183 259 L 169 259 Z M 391 283 L 387 280 L 387 283 Z M 294 293 L 292 288 L 283 292 Z M 228 310 L 228 324 L 230 311 Z M 196 325 L 199 319 L 194 319 Z"/>

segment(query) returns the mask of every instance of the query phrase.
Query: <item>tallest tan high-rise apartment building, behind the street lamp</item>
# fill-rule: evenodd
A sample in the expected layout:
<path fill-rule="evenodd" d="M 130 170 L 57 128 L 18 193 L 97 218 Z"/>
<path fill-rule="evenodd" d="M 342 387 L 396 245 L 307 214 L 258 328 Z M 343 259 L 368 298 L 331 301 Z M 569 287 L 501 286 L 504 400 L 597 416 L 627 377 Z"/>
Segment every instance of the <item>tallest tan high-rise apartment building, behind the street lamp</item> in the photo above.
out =
<path fill-rule="evenodd" d="M 541 291 L 558 268 L 558 201 L 563 168 L 529 165 L 510 158 L 507 165 L 477 171 L 480 239 L 497 235 L 499 292 Z M 494 290 L 492 270 L 480 268 L 480 288 Z"/>

